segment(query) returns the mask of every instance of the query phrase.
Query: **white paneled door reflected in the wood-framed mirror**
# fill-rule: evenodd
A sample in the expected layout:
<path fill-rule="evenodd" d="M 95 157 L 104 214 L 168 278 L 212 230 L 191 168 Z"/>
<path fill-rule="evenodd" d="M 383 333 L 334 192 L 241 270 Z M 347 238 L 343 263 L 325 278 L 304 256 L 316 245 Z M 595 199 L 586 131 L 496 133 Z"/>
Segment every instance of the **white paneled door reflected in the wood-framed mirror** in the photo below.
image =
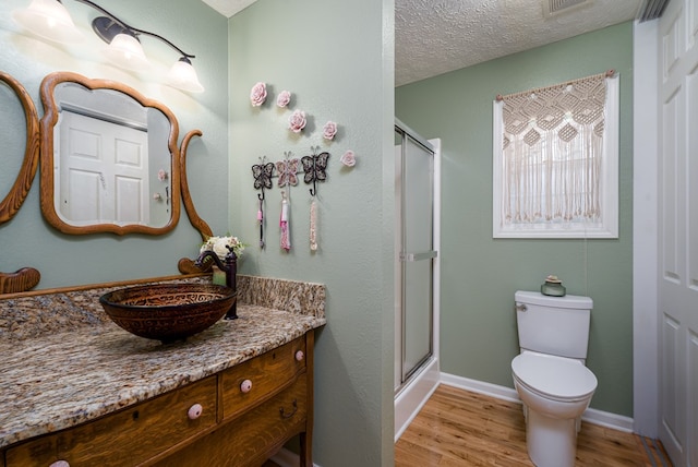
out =
<path fill-rule="evenodd" d="M 57 212 L 69 224 L 147 224 L 147 133 L 63 110 Z"/>

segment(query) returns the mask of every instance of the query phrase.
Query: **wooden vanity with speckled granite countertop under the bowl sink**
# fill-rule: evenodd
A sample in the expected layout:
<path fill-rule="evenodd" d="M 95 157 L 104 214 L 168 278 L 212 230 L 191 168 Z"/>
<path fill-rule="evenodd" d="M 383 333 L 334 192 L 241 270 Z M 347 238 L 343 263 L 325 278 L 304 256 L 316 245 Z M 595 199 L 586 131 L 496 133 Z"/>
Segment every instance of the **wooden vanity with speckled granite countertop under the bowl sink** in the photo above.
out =
<path fill-rule="evenodd" d="M 108 322 L 72 331 L 84 334 L 72 344 L 1 344 L 16 360 L 5 354 L 0 382 L 0 466 L 260 466 L 297 434 L 312 466 L 324 316 L 244 303 L 238 314 L 168 345 Z"/>

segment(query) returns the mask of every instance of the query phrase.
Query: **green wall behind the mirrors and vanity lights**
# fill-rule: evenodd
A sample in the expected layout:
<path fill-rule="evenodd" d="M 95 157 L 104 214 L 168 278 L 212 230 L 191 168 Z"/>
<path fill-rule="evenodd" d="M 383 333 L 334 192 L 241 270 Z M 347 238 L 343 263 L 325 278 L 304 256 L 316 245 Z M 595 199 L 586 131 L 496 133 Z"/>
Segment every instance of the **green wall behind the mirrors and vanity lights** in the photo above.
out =
<path fill-rule="evenodd" d="M 105 44 L 92 32 L 96 11 L 67 0 L 64 5 L 85 40 L 75 45 L 49 44 L 22 32 L 11 12 L 26 8 L 28 0 L 3 0 L 0 4 L 0 70 L 19 80 L 32 95 L 39 117 L 44 113 L 39 84 L 55 71 L 73 71 L 88 77 L 121 81 L 142 94 L 165 103 L 179 120 L 180 137 L 201 129 L 203 139 L 190 145 L 188 172 L 200 215 L 215 230 L 228 223 L 228 49 L 227 20 L 200 0 L 122 0 L 104 5 L 134 27 L 160 34 L 189 53 L 206 87 L 190 95 L 160 84 L 163 73 L 179 58 L 159 40 L 143 37 L 143 48 L 154 67 L 131 73 L 104 61 Z M 0 197 L 4 197 L 19 171 L 24 154 L 25 127 L 22 108 L 7 86 L 0 86 L 0 141 L 2 170 Z M 5 111 L 8 109 L 8 111 Z M 178 274 L 180 258 L 194 258 L 201 244 L 186 214 L 177 228 L 159 237 L 132 235 L 65 236 L 51 228 L 39 209 L 39 177 L 27 200 L 9 223 L 0 225 L 0 271 L 33 266 L 41 272 L 38 288 L 94 284 L 128 278 Z"/>

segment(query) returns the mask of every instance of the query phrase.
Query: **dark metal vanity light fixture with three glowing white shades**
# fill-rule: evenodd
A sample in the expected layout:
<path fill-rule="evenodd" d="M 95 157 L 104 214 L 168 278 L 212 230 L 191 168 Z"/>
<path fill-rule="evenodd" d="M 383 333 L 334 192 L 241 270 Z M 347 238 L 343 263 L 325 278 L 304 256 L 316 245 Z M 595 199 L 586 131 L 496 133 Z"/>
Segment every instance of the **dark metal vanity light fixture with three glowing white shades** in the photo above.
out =
<path fill-rule="evenodd" d="M 204 91 L 204 86 L 196 76 L 196 70 L 192 67 L 193 55 L 184 52 L 160 35 L 130 26 L 91 0 L 74 1 L 89 5 L 104 15 L 93 20 L 92 28 L 100 39 L 109 44 L 106 53 L 113 64 L 135 71 L 147 69 L 149 62 L 145 57 L 139 36 L 155 37 L 177 50 L 181 56 L 170 69 L 167 84 L 190 93 Z M 45 39 L 57 43 L 75 43 L 83 37 L 61 0 L 32 0 L 28 8 L 14 11 L 12 16 L 20 25 Z"/>

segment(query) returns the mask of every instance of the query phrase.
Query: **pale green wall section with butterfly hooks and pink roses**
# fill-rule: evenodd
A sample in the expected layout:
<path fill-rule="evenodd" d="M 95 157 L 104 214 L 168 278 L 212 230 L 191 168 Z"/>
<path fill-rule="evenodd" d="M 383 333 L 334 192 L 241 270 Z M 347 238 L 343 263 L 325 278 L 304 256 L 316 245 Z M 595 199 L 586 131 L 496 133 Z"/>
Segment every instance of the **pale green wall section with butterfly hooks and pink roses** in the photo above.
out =
<path fill-rule="evenodd" d="M 242 271 L 326 284 L 327 325 L 316 335 L 314 462 L 378 466 L 393 462 L 393 23 L 392 0 L 258 0 L 230 20 L 230 225 L 250 243 Z M 392 29 L 389 29 L 392 32 Z M 250 91 L 267 84 L 267 101 Z M 292 93 L 288 109 L 276 96 Z M 292 110 L 308 115 L 290 132 Z M 327 120 L 339 124 L 333 142 Z M 311 195 L 302 176 L 290 189 L 290 252 L 279 248 L 280 190 L 266 191 L 266 247 L 258 247 L 251 166 L 285 152 L 330 154 L 317 184 L 320 249 L 309 248 Z M 353 151 L 352 169 L 339 158 Z M 386 213 L 388 214 L 386 216 Z"/>

